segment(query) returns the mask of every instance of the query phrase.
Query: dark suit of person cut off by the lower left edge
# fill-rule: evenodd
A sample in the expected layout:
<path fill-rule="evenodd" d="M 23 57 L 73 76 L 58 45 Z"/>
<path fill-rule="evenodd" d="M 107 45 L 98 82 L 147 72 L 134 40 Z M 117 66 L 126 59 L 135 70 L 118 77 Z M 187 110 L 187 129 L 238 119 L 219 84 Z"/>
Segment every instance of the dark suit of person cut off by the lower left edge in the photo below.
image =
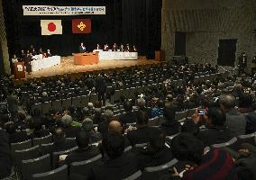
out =
<path fill-rule="evenodd" d="M 0 179 L 11 175 L 12 157 L 9 135 L 5 130 L 0 130 Z"/>

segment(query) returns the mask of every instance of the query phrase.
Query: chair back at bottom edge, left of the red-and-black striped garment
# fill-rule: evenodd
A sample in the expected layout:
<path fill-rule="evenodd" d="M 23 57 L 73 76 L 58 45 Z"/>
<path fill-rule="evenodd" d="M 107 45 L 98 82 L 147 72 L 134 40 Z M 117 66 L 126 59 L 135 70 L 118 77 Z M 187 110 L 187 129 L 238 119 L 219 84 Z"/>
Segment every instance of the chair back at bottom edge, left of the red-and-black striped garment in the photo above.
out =
<path fill-rule="evenodd" d="M 142 179 L 143 180 L 154 180 L 154 179 L 160 179 L 162 175 L 169 175 L 169 168 L 172 168 L 178 163 L 178 160 L 176 158 L 172 159 L 168 163 L 165 163 L 160 166 L 150 166 L 146 167 L 143 170 Z"/>

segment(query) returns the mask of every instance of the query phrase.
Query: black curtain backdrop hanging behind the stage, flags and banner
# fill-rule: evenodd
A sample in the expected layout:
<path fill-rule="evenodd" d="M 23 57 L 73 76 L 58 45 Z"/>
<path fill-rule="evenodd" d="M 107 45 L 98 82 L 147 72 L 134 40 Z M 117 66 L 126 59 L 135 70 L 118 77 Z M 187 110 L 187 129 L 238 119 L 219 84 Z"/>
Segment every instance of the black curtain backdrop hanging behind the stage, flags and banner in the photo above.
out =
<path fill-rule="evenodd" d="M 95 49 L 96 43 L 134 44 L 139 54 L 148 58 L 160 49 L 160 0 L 6 0 L 3 4 L 10 55 L 34 44 L 36 49 L 51 49 L 53 54 L 69 56 L 78 52 L 81 41 L 89 51 Z M 106 14 L 23 16 L 23 5 L 105 6 Z M 72 33 L 72 20 L 79 18 L 91 20 L 91 33 Z M 41 20 L 61 20 L 63 33 L 41 36 Z"/>

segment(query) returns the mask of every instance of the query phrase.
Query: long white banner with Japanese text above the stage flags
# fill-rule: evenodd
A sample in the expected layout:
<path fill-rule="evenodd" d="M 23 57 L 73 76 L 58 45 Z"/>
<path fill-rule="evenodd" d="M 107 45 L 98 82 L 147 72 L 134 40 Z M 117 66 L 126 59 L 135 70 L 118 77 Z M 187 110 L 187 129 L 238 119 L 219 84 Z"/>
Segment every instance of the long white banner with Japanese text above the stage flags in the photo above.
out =
<path fill-rule="evenodd" d="M 23 5 L 23 15 L 101 15 L 105 6 Z"/>

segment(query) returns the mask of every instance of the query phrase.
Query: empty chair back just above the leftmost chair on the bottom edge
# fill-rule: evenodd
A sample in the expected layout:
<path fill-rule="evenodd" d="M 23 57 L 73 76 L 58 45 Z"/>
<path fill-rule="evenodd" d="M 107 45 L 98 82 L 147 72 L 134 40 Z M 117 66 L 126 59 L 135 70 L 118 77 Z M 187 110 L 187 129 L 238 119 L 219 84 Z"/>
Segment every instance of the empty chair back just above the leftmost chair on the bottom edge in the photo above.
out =
<path fill-rule="evenodd" d="M 23 179 L 32 179 L 33 174 L 50 171 L 50 154 L 22 161 Z"/>

